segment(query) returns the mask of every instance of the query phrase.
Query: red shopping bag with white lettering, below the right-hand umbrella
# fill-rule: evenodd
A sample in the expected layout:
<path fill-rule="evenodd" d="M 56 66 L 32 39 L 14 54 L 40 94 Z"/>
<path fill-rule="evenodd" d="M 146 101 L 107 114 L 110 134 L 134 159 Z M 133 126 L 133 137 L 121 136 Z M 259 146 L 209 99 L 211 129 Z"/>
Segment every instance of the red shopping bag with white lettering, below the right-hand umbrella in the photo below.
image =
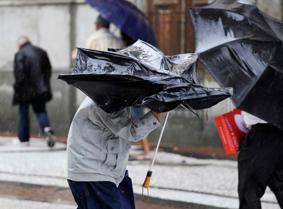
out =
<path fill-rule="evenodd" d="M 230 112 L 215 117 L 214 120 L 226 154 L 238 152 L 248 132 L 242 110 L 235 108 Z"/>

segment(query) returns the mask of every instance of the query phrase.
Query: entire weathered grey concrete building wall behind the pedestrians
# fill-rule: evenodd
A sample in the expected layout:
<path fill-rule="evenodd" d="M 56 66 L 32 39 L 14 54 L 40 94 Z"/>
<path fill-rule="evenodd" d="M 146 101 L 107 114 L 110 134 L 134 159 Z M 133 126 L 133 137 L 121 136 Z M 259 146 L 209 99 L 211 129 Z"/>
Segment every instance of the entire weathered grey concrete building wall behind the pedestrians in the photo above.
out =
<path fill-rule="evenodd" d="M 133 0 L 144 10 L 144 0 Z M 253 0 L 262 10 L 273 16 L 282 14 L 281 0 Z M 0 131 L 17 132 L 18 109 L 11 107 L 13 87 L 13 60 L 17 52 L 16 40 L 28 35 L 30 41 L 45 49 L 53 67 L 51 79 L 53 99 L 47 103 L 47 111 L 55 133 L 67 136 L 70 123 L 82 98 L 77 89 L 56 79 L 58 74 L 69 74 L 73 68 L 70 53 L 75 47 L 84 47 L 87 37 L 94 32 L 93 22 L 98 13 L 83 0 L 0 0 Z M 279 15 L 279 16 L 280 16 Z M 278 18 L 278 17 L 277 17 Z M 111 26 L 118 36 L 119 30 Z M 206 71 L 199 77 L 206 87 L 218 84 Z M 173 110 L 168 118 L 163 142 L 176 144 L 210 145 L 222 147 L 214 117 L 227 112 L 228 100 L 207 110 L 198 110 L 198 118 L 188 110 Z M 36 116 L 30 108 L 31 134 L 41 134 Z M 161 117 L 163 121 L 165 116 Z M 149 141 L 157 141 L 161 126 L 149 135 Z"/>

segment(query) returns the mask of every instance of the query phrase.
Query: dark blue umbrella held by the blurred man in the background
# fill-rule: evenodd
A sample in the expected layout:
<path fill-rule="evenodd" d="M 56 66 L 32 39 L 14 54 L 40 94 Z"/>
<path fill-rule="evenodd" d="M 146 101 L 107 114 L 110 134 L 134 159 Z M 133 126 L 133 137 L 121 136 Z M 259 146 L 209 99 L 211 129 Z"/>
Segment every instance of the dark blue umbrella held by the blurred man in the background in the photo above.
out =
<path fill-rule="evenodd" d="M 101 17 L 116 25 L 134 41 L 138 39 L 157 46 L 150 21 L 132 3 L 125 0 L 86 0 Z"/>

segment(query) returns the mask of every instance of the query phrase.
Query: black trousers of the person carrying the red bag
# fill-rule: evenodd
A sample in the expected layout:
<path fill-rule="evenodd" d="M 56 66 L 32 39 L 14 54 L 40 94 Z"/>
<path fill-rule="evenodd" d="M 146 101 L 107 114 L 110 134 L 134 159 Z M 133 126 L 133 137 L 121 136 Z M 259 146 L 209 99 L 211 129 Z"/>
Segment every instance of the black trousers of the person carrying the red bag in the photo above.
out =
<path fill-rule="evenodd" d="M 238 155 L 240 209 L 261 209 L 267 186 L 283 208 L 283 131 L 256 124 L 246 135 Z"/>

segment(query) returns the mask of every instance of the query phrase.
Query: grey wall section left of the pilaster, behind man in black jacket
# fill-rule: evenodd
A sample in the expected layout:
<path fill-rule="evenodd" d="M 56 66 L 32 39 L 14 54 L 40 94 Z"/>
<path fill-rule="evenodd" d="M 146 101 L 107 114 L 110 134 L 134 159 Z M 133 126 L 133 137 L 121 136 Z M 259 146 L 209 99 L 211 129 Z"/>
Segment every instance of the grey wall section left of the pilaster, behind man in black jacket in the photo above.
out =
<path fill-rule="evenodd" d="M 0 1 L 0 131 L 17 132 L 18 108 L 11 107 L 14 76 L 13 60 L 16 41 L 29 36 L 33 45 L 47 51 L 53 68 L 53 99 L 47 103 L 49 121 L 59 135 L 66 136 L 74 114 L 75 90 L 57 80 L 58 74 L 69 74 L 72 68 L 72 4 L 58 1 Z M 41 134 L 32 108 L 29 109 L 31 134 Z"/>

